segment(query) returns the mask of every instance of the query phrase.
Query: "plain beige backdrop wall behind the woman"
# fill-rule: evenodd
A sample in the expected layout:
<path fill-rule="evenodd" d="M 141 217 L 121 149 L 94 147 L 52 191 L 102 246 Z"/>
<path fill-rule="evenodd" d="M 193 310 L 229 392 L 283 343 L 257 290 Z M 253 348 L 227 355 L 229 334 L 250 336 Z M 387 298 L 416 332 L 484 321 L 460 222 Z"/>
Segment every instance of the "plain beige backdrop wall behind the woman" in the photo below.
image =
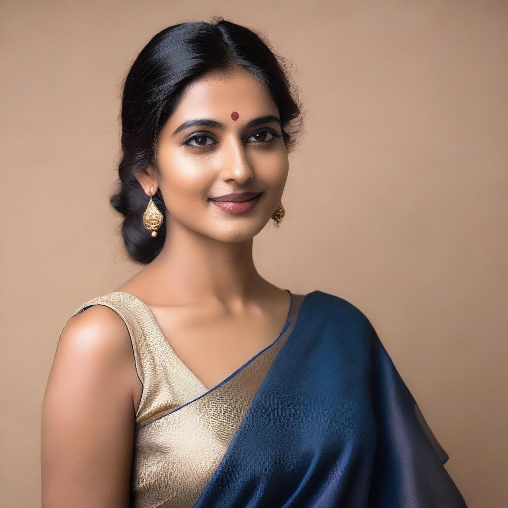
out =
<path fill-rule="evenodd" d="M 306 134 L 255 260 L 369 317 L 470 508 L 508 506 L 507 2 L 2 3 L 2 504 L 40 505 L 57 333 L 139 269 L 108 204 L 121 80 L 220 14 L 295 63 Z"/>

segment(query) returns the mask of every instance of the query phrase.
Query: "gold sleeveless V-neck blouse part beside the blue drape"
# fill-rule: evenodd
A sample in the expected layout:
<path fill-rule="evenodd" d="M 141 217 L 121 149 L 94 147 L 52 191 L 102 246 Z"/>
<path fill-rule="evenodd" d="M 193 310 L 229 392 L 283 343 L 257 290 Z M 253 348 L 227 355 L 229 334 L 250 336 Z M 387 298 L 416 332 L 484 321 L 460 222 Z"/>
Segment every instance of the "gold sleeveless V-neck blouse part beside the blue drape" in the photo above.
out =
<path fill-rule="evenodd" d="M 196 504 L 294 328 L 305 295 L 291 297 L 279 336 L 211 389 L 176 355 L 138 297 L 109 293 L 83 303 L 69 317 L 91 305 L 105 305 L 120 316 L 131 337 L 143 385 L 135 416 L 131 508 L 192 508 Z"/>

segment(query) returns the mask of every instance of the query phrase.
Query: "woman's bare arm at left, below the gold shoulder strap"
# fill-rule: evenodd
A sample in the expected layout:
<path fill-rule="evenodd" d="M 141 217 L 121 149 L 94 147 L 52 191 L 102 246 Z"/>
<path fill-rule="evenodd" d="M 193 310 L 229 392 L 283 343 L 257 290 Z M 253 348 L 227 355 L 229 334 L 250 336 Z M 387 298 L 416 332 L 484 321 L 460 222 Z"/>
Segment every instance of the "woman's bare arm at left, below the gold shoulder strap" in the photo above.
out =
<path fill-rule="evenodd" d="M 64 327 L 42 406 L 43 508 L 129 506 L 132 355 L 109 307 L 91 306 Z"/>

